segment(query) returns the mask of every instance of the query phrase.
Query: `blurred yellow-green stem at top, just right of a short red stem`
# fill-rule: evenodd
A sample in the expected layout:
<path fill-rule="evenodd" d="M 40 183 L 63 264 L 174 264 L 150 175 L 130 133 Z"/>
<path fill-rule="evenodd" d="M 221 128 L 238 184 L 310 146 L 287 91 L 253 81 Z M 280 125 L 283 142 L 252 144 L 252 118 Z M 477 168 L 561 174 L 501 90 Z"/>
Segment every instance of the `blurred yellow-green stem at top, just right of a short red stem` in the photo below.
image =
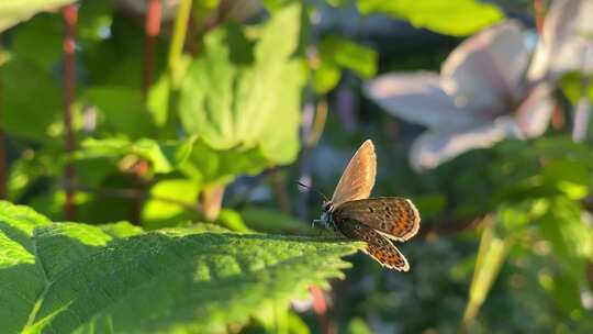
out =
<path fill-rule="evenodd" d="M 168 58 L 169 74 L 171 76 L 174 87 L 177 87 L 179 85 L 179 80 L 181 79 L 180 59 L 181 54 L 183 53 L 183 45 L 186 44 L 186 35 L 188 34 L 190 12 L 191 0 L 180 0 L 177 9 L 177 16 L 175 19 Z"/>

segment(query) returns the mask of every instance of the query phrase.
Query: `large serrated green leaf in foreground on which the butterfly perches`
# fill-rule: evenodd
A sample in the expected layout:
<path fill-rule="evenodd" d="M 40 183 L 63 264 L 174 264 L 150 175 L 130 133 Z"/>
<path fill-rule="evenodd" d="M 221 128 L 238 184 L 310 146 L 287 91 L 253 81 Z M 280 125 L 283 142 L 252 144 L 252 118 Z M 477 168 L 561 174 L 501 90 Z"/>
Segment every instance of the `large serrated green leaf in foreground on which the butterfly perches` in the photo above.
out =
<path fill-rule="evenodd" d="M 127 236 L 127 237 L 121 237 Z M 0 202 L 3 333 L 212 333 L 343 277 L 359 244 L 52 223 Z"/>

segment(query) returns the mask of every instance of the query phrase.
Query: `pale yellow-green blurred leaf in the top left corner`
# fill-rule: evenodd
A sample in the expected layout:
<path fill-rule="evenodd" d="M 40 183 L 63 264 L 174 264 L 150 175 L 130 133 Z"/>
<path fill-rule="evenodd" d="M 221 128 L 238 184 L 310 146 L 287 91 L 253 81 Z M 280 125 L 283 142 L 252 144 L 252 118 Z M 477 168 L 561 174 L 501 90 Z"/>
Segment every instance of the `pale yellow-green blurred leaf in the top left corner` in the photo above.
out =
<path fill-rule="evenodd" d="M 0 2 L 0 32 L 27 20 L 37 12 L 59 8 L 75 0 L 2 0 Z"/>

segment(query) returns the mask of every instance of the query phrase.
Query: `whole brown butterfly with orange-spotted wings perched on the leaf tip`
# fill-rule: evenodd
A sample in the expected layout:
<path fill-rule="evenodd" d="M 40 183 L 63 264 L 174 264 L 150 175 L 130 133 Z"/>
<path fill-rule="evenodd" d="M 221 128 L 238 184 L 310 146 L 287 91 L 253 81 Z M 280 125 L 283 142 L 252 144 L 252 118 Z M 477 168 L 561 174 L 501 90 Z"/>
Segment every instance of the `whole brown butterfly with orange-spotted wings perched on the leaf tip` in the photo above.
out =
<path fill-rule="evenodd" d="M 404 198 L 369 198 L 376 174 L 374 146 L 367 140 L 348 163 L 332 199 L 323 203 L 321 222 L 366 242 L 365 253 L 381 266 L 407 271 L 410 265 L 392 241 L 405 242 L 418 232 L 418 210 Z"/>

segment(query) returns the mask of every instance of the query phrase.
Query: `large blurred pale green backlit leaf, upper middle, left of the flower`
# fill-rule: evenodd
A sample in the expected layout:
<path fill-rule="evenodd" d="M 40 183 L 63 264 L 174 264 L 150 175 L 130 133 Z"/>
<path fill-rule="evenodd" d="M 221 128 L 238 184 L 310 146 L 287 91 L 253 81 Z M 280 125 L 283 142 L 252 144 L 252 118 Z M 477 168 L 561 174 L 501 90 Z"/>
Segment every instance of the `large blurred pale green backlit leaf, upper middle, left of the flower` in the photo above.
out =
<path fill-rule="evenodd" d="M 289 163 L 299 149 L 301 63 L 291 58 L 299 43 L 296 4 L 275 13 L 253 47 L 236 26 L 204 37 L 204 51 L 180 89 L 184 130 L 214 149 L 260 147 L 268 160 Z M 238 53 L 243 51 L 242 53 Z"/>

